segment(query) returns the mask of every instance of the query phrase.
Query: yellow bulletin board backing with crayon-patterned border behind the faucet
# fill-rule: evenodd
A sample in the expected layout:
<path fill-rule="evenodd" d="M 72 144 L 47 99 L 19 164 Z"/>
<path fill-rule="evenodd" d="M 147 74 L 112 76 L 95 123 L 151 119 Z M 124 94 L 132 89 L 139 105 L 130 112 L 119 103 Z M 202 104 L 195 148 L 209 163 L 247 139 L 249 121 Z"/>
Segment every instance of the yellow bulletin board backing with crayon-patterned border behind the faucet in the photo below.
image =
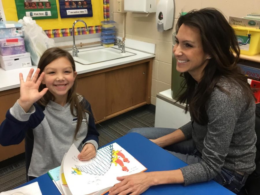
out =
<path fill-rule="evenodd" d="M 78 19 L 85 21 L 88 25 L 88 29 L 85 29 L 84 24 L 79 22 L 75 25 L 75 35 L 101 32 L 101 21 L 109 20 L 109 0 L 92 0 L 93 16 L 75 18 L 61 18 L 59 0 L 55 1 L 58 18 L 35 20 L 50 38 L 71 36 L 72 24 Z M 15 0 L 2 0 L 2 3 L 6 20 L 18 21 Z"/>

